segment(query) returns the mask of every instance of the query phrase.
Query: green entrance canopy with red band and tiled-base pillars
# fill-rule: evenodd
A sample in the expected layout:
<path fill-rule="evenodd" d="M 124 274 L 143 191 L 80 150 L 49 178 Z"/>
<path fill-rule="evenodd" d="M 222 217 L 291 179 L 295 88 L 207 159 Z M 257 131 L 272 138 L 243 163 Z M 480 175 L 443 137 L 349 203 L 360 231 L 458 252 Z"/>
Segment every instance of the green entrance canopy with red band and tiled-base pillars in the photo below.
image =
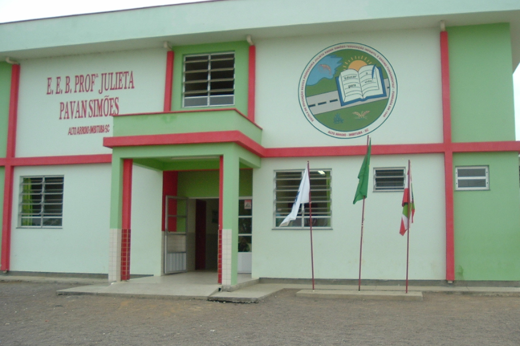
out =
<path fill-rule="evenodd" d="M 240 168 L 259 168 L 262 129 L 235 109 L 114 116 L 109 280 L 129 278 L 132 165 L 219 170 L 218 281 L 237 284 Z M 120 254 L 120 255 L 117 255 Z"/>

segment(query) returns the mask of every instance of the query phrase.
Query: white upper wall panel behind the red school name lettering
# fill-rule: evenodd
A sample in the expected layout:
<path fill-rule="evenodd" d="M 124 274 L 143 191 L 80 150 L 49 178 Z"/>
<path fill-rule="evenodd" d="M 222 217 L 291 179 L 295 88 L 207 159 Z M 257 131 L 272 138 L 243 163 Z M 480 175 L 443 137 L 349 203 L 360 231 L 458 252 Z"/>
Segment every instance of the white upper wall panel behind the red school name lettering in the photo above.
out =
<path fill-rule="evenodd" d="M 16 155 L 31 157 L 110 153 L 109 148 L 103 147 L 103 137 L 113 134 L 112 116 L 107 114 L 162 111 L 165 68 L 164 49 L 22 61 Z M 104 84 L 102 74 L 116 72 L 128 72 L 126 84 L 124 78 L 120 85 L 113 84 L 122 89 L 100 89 Z M 129 80 L 130 72 L 133 88 Z M 89 89 L 92 91 L 80 92 L 80 86 L 75 86 L 75 76 L 87 74 L 97 75 Z M 67 76 L 70 77 L 69 93 L 66 93 Z M 57 94 L 57 77 L 61 78 L 61 94 Z M 90 105 L 94 105 L 93 100 L 100 99 L 112 99 L 112 107 L 109 111 L 110 104 L 107 103 L 106 112 L 98 117 L 94 116 Z M 86 114 L 75 111 L 75 104 L 82 101 L 87 101 Z M 71 112 L 72 104 L 74 110 Z M 66 118 L 67 105 L 70 118 Z M 104 132 L 77 135 L 80 129 L 83 131 L 85 127 L 95 125 L 102 126 Z"/>

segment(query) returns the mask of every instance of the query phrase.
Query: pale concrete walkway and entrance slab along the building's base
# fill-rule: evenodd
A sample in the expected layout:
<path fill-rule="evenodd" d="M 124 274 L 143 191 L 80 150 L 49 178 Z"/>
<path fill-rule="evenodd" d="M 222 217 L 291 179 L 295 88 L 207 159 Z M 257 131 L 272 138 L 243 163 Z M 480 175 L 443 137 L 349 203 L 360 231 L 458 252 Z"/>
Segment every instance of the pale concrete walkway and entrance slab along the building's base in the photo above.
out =
<path fill-rule="evenodd" d="M 404 286 L 393 285 L 316 285 L 261 283 L 249 274 L 239 274 L 235 290 L 222 291 L 216 284 L 217 274 L 190 272 L 165 276 L 133 278 L 125 282 L 108 283 L 106 279 L 11 276 L 1 275 L 0 281 L 64 282 L 78 287 L 59 290 L 58 295 L 104 295 L 139 298 L 204 299 L 230 302 L 258 302 L 284 288 L 299 289 L 298 296 L 312 298 L 422 300 L 423 292 L 447 292 L 490 296 L 520 296 L 520 287 L 494 286 Z"/>

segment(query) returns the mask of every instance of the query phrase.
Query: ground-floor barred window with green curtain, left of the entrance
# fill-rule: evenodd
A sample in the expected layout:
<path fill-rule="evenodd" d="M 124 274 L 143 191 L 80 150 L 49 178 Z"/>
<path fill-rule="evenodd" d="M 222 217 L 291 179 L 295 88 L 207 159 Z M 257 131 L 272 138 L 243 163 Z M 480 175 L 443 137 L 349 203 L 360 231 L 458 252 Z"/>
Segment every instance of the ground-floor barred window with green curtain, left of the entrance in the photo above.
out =
<path fill-rule="evenodd" d="M 19 227 L 61 227 L 63 176 L 21 177 Z"/>

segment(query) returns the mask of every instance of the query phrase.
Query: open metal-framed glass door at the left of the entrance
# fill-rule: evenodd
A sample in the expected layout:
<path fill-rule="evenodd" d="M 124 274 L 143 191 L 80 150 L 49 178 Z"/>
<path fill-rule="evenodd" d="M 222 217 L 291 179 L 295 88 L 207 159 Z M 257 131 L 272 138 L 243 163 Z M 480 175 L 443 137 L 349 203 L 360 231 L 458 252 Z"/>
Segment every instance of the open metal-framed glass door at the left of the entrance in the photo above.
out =
<path fill-rule="evenodd" d="M 188 198 L 165 198 L 164 274 L 186 272 Z"/>

